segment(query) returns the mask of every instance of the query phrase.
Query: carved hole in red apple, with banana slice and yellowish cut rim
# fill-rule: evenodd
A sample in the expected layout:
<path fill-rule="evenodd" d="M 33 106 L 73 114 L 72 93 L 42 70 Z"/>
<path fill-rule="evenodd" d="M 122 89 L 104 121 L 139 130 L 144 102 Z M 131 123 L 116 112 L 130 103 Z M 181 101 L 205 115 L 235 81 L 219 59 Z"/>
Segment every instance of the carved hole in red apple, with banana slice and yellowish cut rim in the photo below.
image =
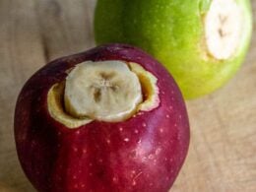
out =
<path fill-rule="evenodd" d="M 70 70 L 64 82 L 52 86 L 47 96 L 48 111 L 68 128 L 93 120 L 125 121 L 140 110 L 159 106 L 157 82 L 137 63 L 86 61 Z"/>

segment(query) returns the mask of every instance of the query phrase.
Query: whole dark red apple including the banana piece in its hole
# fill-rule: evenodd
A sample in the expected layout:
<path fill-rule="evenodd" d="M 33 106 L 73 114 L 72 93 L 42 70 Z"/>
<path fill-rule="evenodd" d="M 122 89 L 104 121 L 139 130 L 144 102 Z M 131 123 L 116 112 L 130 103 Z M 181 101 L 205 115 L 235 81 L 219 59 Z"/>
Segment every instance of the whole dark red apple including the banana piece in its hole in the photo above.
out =
<path fill-rule="evenodd" d="M 15 140 L 38 191 L 166 192 L 187 154 L 189 122 L 159 62 L 107 44 L 32 76 L 17 100 Z"/>

